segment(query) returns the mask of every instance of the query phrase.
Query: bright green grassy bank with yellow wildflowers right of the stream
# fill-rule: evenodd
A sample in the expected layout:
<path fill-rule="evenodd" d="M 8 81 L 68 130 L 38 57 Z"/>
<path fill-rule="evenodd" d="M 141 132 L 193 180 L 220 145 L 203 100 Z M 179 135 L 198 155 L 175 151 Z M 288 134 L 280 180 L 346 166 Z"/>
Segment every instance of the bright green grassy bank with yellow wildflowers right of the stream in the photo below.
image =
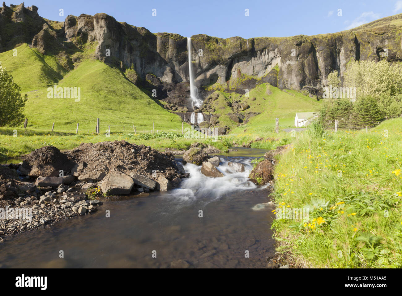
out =
<path fill-rule="evenodd" d="M 296 135 L 275 168 L 275 204 L 310 209 L 308 221 L 273 222 L 277 250 L 289 263 L 401 267 L 401 125 L 396 118 L 368 133 Z"/>

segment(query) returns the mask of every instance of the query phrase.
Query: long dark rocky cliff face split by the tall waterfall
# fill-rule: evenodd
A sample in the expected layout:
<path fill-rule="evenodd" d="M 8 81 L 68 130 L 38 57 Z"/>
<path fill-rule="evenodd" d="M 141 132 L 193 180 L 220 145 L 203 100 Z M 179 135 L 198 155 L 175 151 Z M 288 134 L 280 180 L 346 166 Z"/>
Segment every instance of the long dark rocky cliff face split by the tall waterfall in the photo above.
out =
<path fill-rule="evenodd" d="M 36 6 L 25 8 L 23 3 L 8 7 L 3 2 L 0 51 L 26 42 L 45 54 L 68 55 L 74 50 L 71 43 L 94 42 L 96 58 L 123 72 L 131 69 L 129 80 L 158 87 L 164 97 L 174 94 L 178 85 L 183 89 L 182 84 L 189 80 L 187 40 L 183 36 L 153 34 L 117 22 L 105 13 L 70 15 L 57 28 L 57 22 L 39 17 L 37 10 Z M 314 36 L 246 40 L 194 35 L 190 50 L 195 83 L 198 87 L 241 88 L 242 80 L 256 78 L 281 89 L 306 89 L 320 95 L 328 73 L 338 70 L 342 77 L 350 61 L 402 61 L 401 20 L 402 14 L 398 14 L 353 30 Z M 154 78 L 149 79 L 149 75 Z"/>

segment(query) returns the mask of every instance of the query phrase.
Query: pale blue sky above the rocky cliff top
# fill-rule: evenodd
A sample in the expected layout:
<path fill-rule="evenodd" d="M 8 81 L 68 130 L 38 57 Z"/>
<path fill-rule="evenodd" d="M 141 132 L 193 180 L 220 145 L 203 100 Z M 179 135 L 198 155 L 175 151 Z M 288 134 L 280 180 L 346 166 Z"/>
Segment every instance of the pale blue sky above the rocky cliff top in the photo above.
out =
<path fill-rule="evenodd" d="M 402 13 L 402 0 L 25 1 L 26 7 L 31 5 L 39 8 L 41 17 L 53 21 L 64 21 L 69 14 L 105 12 L 117 21 L 146 27 L 153 33 L 178 33 L 185 37 L 207 34 L 222 38 L 334 33 Z M 64 16 L 59 16 L 61 8 Z M 156 9 L 155 17 L 152 9 Z M 338 9 L 341 9 L 341 16 L 338 16 Z"/>

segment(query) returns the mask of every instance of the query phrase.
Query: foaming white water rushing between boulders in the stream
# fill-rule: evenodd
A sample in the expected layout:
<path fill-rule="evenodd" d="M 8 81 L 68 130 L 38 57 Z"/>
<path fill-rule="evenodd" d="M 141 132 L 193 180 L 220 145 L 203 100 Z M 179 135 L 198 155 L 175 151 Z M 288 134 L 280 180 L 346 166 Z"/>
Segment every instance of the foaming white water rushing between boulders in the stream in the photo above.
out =
<path fill-rule="evenodd" d="M 201 166 L 187 163 L 185 171 L 190 173 L 189 178 L 182 179 L 180 188 L 167 193 L 168 197 L 176 197 L 182 200 L 201 200 L 204 202 L 213 201 L 221 197 L 230 197 L 232 193 L 246 190 L 260 190 L 265 186 L 256 186 L 248 181 L 248 175 L 252 170 L 251 160 L 253 158 L 220 157 L 221 164 L 217 170 L 224 174 L 223 177 L 211 178 L 201 173 Z M 234 172 L 228 165 L 229 161 L 240 162 L 245 166 L 244 172 Z M 165 195 L 166 196 L 166 195 Z"/>

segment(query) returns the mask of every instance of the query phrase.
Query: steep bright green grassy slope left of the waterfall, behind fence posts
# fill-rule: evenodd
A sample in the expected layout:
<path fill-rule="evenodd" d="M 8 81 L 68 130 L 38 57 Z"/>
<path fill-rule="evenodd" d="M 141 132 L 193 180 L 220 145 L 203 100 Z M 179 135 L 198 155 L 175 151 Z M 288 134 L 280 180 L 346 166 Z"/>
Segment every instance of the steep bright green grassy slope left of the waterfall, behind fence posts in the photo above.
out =
<path fill-rule="evenodd" d="M 42 56 L 26 45 L 17 49 L 17 57 L 9 51 L 0 54 L 0 60 L 28 94 L 25 114 L 30 128 L 49 130 L 55 122 L 55 130 L 74 131 L 79 122 L 81 130 L 92 131 L 100 118 L 101 131 L 109 124 L 112 131 L 132 124 L 137 130 L 150 131 L 152 122 L 155 130 L 181 130 L 180 117 L 164 110 L 117 69 L 86 59 L 66 74 L 55 58 Z M 80 87 L 81 100 L 47 98 L 47 87 L 53 84 Z"/>

